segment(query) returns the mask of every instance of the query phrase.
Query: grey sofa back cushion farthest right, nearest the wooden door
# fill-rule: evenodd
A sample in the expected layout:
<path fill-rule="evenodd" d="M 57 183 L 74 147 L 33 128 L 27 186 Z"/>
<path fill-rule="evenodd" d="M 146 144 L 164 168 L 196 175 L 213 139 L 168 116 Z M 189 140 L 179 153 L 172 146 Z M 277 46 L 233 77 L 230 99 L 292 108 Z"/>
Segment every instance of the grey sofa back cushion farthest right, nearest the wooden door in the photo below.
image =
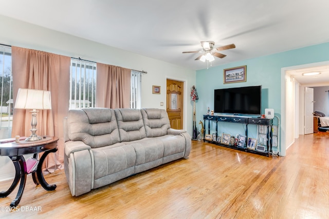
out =
<path fill-rule="evenodd" d="M 170 128 L 168 114 L 164 109 L 141 109 L 147 137 L 158 137 L 167 134 Z"/>

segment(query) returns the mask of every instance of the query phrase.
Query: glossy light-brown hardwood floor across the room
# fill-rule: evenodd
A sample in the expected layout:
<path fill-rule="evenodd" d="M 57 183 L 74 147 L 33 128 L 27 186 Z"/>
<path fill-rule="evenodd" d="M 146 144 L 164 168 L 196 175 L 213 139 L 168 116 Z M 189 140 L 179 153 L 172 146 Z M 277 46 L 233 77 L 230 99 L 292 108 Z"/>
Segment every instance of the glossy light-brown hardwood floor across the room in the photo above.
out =
<path fill-rule="evenodd" d="M 0 211 L 0 217 L 328 218 L 329 133 L 301 135 L 285 157 L 192 141 L 188 160 L 78 197 L 71 196 L 64 170 L 45 178 L 57 184 L 55 191 L 35 187 L 28 175 L 20 211 Z M 10 184 L 1 182 L 0 191 Z M 8 207 L 16 192 L 0 198 L 0 207 Z"/>

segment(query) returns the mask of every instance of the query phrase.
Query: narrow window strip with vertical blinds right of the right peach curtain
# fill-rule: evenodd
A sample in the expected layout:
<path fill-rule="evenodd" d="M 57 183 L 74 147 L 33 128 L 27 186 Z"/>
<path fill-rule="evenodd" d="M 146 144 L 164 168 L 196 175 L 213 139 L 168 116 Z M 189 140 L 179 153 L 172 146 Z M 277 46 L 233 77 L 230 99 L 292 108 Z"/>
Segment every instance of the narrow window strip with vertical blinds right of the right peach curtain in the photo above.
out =
<path fill-rule="evenodd" d="M 141 108 L 141 77 L 142 72 L 132 70 L 130 86 L 130 108 Z"/>

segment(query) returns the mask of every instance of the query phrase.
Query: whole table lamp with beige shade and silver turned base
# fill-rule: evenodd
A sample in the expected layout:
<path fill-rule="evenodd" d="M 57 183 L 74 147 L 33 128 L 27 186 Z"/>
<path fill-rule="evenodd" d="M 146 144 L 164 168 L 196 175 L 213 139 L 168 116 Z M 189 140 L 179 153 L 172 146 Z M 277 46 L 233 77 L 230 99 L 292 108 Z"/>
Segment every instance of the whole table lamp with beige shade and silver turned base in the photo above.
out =
<path fill-rule="evenodd" d="M 42 137 L 35 134 L 36 129 L 36 112 L 39 110 L 51 109 L 51 96 L 50 91 L 46 90 L 33 90 L 33 89 L 22 89 L 20 88 L 17 92 L 15 109 L 32 109 L 32 134 L 26 138 L 26 142 L 39 141 Z"/>

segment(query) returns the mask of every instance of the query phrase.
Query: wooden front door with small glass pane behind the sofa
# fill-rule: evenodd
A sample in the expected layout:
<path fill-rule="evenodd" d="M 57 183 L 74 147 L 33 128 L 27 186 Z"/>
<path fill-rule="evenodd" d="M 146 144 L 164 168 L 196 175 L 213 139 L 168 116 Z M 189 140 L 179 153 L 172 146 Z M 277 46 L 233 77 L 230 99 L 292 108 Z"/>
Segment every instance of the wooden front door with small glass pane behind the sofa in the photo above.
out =
<path fill-rule="evenodd" d="M 167 113 L 173 129 L 183 129 L 184 82 L 167 79 Z"/>

